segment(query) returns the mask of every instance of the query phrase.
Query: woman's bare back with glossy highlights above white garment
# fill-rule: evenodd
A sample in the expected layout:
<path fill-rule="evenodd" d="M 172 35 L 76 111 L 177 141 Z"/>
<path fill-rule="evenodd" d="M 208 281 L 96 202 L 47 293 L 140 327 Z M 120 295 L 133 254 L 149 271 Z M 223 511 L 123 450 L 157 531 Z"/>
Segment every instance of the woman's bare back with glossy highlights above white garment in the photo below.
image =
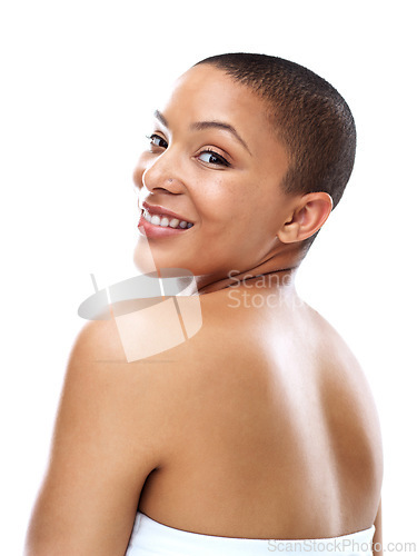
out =
<path fill-rule="evenodd" d="M 245 302 L 242 290 L 229 291 L 201 296 L 202 329 L 166 353 L 169 365 L 155 358 L 170 385 L 170 440 L 139 509 L 171 527 L 229 537 L 320 538 L 370 527 L 381 446 L 356 359 L 296 298 L 271 307 L 265 291 L 247 289 Z"/>

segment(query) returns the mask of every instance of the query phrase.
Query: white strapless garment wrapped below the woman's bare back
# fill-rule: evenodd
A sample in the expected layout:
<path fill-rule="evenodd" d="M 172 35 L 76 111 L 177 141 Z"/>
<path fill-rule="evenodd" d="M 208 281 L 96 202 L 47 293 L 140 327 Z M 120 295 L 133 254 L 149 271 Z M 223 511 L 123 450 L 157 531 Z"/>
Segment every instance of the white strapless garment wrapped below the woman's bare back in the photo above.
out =
<path fill-rule="evenodd" d="M 334 538 L 278 540 L 232 538 L 175 529 L 138 513 L 126 556 L 268 556 L 308 554 L 373 556 L 375 527 Z"/>

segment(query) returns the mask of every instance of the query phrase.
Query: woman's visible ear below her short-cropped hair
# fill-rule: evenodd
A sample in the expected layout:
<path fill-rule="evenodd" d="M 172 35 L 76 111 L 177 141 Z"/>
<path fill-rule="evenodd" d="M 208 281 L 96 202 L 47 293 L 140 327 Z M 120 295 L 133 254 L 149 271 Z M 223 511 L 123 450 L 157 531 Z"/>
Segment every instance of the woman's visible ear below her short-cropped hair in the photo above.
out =
<path fill-rule="evenodd" d="M 324 191 L 304 195 L 277 237 L 282 244 L 302 241 L 316 234 L 326 222 L 332 209 L 332 200 Z"/>

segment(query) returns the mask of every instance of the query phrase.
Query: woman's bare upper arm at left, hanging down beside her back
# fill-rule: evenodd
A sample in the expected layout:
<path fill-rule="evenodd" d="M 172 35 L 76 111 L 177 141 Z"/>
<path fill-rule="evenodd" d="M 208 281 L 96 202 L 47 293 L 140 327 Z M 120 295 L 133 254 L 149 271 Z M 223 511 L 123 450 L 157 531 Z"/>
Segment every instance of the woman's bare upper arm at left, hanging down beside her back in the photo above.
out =
<path fill-rule="evenodd" d="M 113 321 L 92 321 L 80 332 L 28 556 L 125 554 L 142 485 L 160 464 L 165 425 L 158 376 L 125 361 Z"/>

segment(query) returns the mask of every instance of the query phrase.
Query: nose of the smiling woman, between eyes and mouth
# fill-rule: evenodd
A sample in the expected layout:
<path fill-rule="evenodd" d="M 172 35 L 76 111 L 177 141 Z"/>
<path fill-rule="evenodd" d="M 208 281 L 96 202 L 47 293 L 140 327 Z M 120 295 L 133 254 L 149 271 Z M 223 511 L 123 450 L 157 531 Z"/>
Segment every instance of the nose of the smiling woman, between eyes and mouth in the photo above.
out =
<path fill-rule="evenodd" d="M 133 181 L 139 190 L 145 186 L 146 189 L 155 193 L 178 195 L 183 192 L 185 185 L 179 177 L 178 163 L 171 163 L 171 157 L 167 155 L 166 151 L 145 163 L 139 159 L 133 172 Z"/>

